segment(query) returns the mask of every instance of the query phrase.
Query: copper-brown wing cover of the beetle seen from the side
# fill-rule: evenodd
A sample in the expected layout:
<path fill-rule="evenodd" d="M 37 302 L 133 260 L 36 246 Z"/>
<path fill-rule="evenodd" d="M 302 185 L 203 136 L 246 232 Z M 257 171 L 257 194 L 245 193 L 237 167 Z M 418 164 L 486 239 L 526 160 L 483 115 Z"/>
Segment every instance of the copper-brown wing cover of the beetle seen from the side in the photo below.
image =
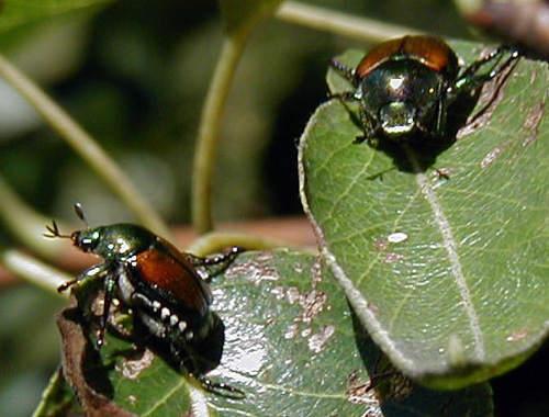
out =
<path fill-rule="evenodd" d="M 171 293 L 186 308 L 205 313 L 212 294 L 194 267 L 183 256 L 149 249 L 136 256 L 136 269 L 143 280 Z"/>

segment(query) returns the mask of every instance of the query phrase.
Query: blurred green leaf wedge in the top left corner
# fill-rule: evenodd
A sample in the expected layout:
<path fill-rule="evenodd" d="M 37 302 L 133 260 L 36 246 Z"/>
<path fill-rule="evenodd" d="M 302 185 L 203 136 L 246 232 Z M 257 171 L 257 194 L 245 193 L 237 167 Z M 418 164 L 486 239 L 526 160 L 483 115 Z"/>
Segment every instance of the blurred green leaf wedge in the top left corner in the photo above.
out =
<path fill-rule="evenodd" d="M 4 0 L 0 3 L 0 31 L 36 22 L 71 10 L 89 8 L 113 0 Z"/>

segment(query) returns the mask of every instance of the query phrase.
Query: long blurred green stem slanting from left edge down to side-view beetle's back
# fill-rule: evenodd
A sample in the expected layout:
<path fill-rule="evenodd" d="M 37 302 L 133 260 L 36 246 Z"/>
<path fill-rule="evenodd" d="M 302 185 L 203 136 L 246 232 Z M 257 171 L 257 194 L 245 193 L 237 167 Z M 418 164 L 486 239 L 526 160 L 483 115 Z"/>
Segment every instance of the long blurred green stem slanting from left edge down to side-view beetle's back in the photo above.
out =
<path fill-rule="evenodd" d="M 114 190 L 137 218 L 170 238 L 168 227 L 109 155 L 52 98 L 0 54 L 0 76 L 23 95 L 44 120 Z"/>

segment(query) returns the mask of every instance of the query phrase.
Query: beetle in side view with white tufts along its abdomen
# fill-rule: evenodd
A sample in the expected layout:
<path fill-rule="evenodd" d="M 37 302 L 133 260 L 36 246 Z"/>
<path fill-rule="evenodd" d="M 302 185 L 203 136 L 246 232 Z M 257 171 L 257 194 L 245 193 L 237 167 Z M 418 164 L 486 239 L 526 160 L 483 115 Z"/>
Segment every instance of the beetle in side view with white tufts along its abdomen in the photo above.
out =
<path fill-rule="evenodd" d="M 75 207 L 85 221 L 80 205 Z M 211 277 L 205 277 L 206 270 L 217 266 L 214 274 L 221 272 L 240 252 L 239 248 L 199 258 L 179 251 L 167 240 L 134 224 L 86 227 L 70 235 L 61 235 L 55 222 L 46 228 L 47 237 L 69 238 L 78 249 L 104 260 L 58 288 L 61 292 L 101 280 L 100 315 L 91 312 L 90 300 L 76 294 L 82 316 L 98 327 L 98 347 L 104 343 L 111 305 L 116 300 L 117 308 L 132 316 L 132 334 L 137 342 L 156 351 L 178 371 L 188 371 L 208 391 L 244 396 L 239 390 L 204 377 L 205 372 L 220 363 L 224 343 L 223 322 L 210 309 L 212 292 L 206 280 Z"/>

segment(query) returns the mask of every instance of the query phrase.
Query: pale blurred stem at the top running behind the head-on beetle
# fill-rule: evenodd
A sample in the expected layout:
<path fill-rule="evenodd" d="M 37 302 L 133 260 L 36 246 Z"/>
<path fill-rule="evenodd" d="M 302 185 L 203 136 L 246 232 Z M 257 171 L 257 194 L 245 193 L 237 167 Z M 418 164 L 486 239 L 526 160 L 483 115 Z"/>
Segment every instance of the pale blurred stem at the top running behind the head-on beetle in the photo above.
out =
<path fill-rule="evenodd" d="M 408 27 L 380 23 L 366 18 L 355 18 L 346 13 L 295 1 L 284 2 L 277 11 L 276 16 L 289 23 L 330 32 L 358 41 L 383 42 L 391 37 L 418 33 Z"/>

